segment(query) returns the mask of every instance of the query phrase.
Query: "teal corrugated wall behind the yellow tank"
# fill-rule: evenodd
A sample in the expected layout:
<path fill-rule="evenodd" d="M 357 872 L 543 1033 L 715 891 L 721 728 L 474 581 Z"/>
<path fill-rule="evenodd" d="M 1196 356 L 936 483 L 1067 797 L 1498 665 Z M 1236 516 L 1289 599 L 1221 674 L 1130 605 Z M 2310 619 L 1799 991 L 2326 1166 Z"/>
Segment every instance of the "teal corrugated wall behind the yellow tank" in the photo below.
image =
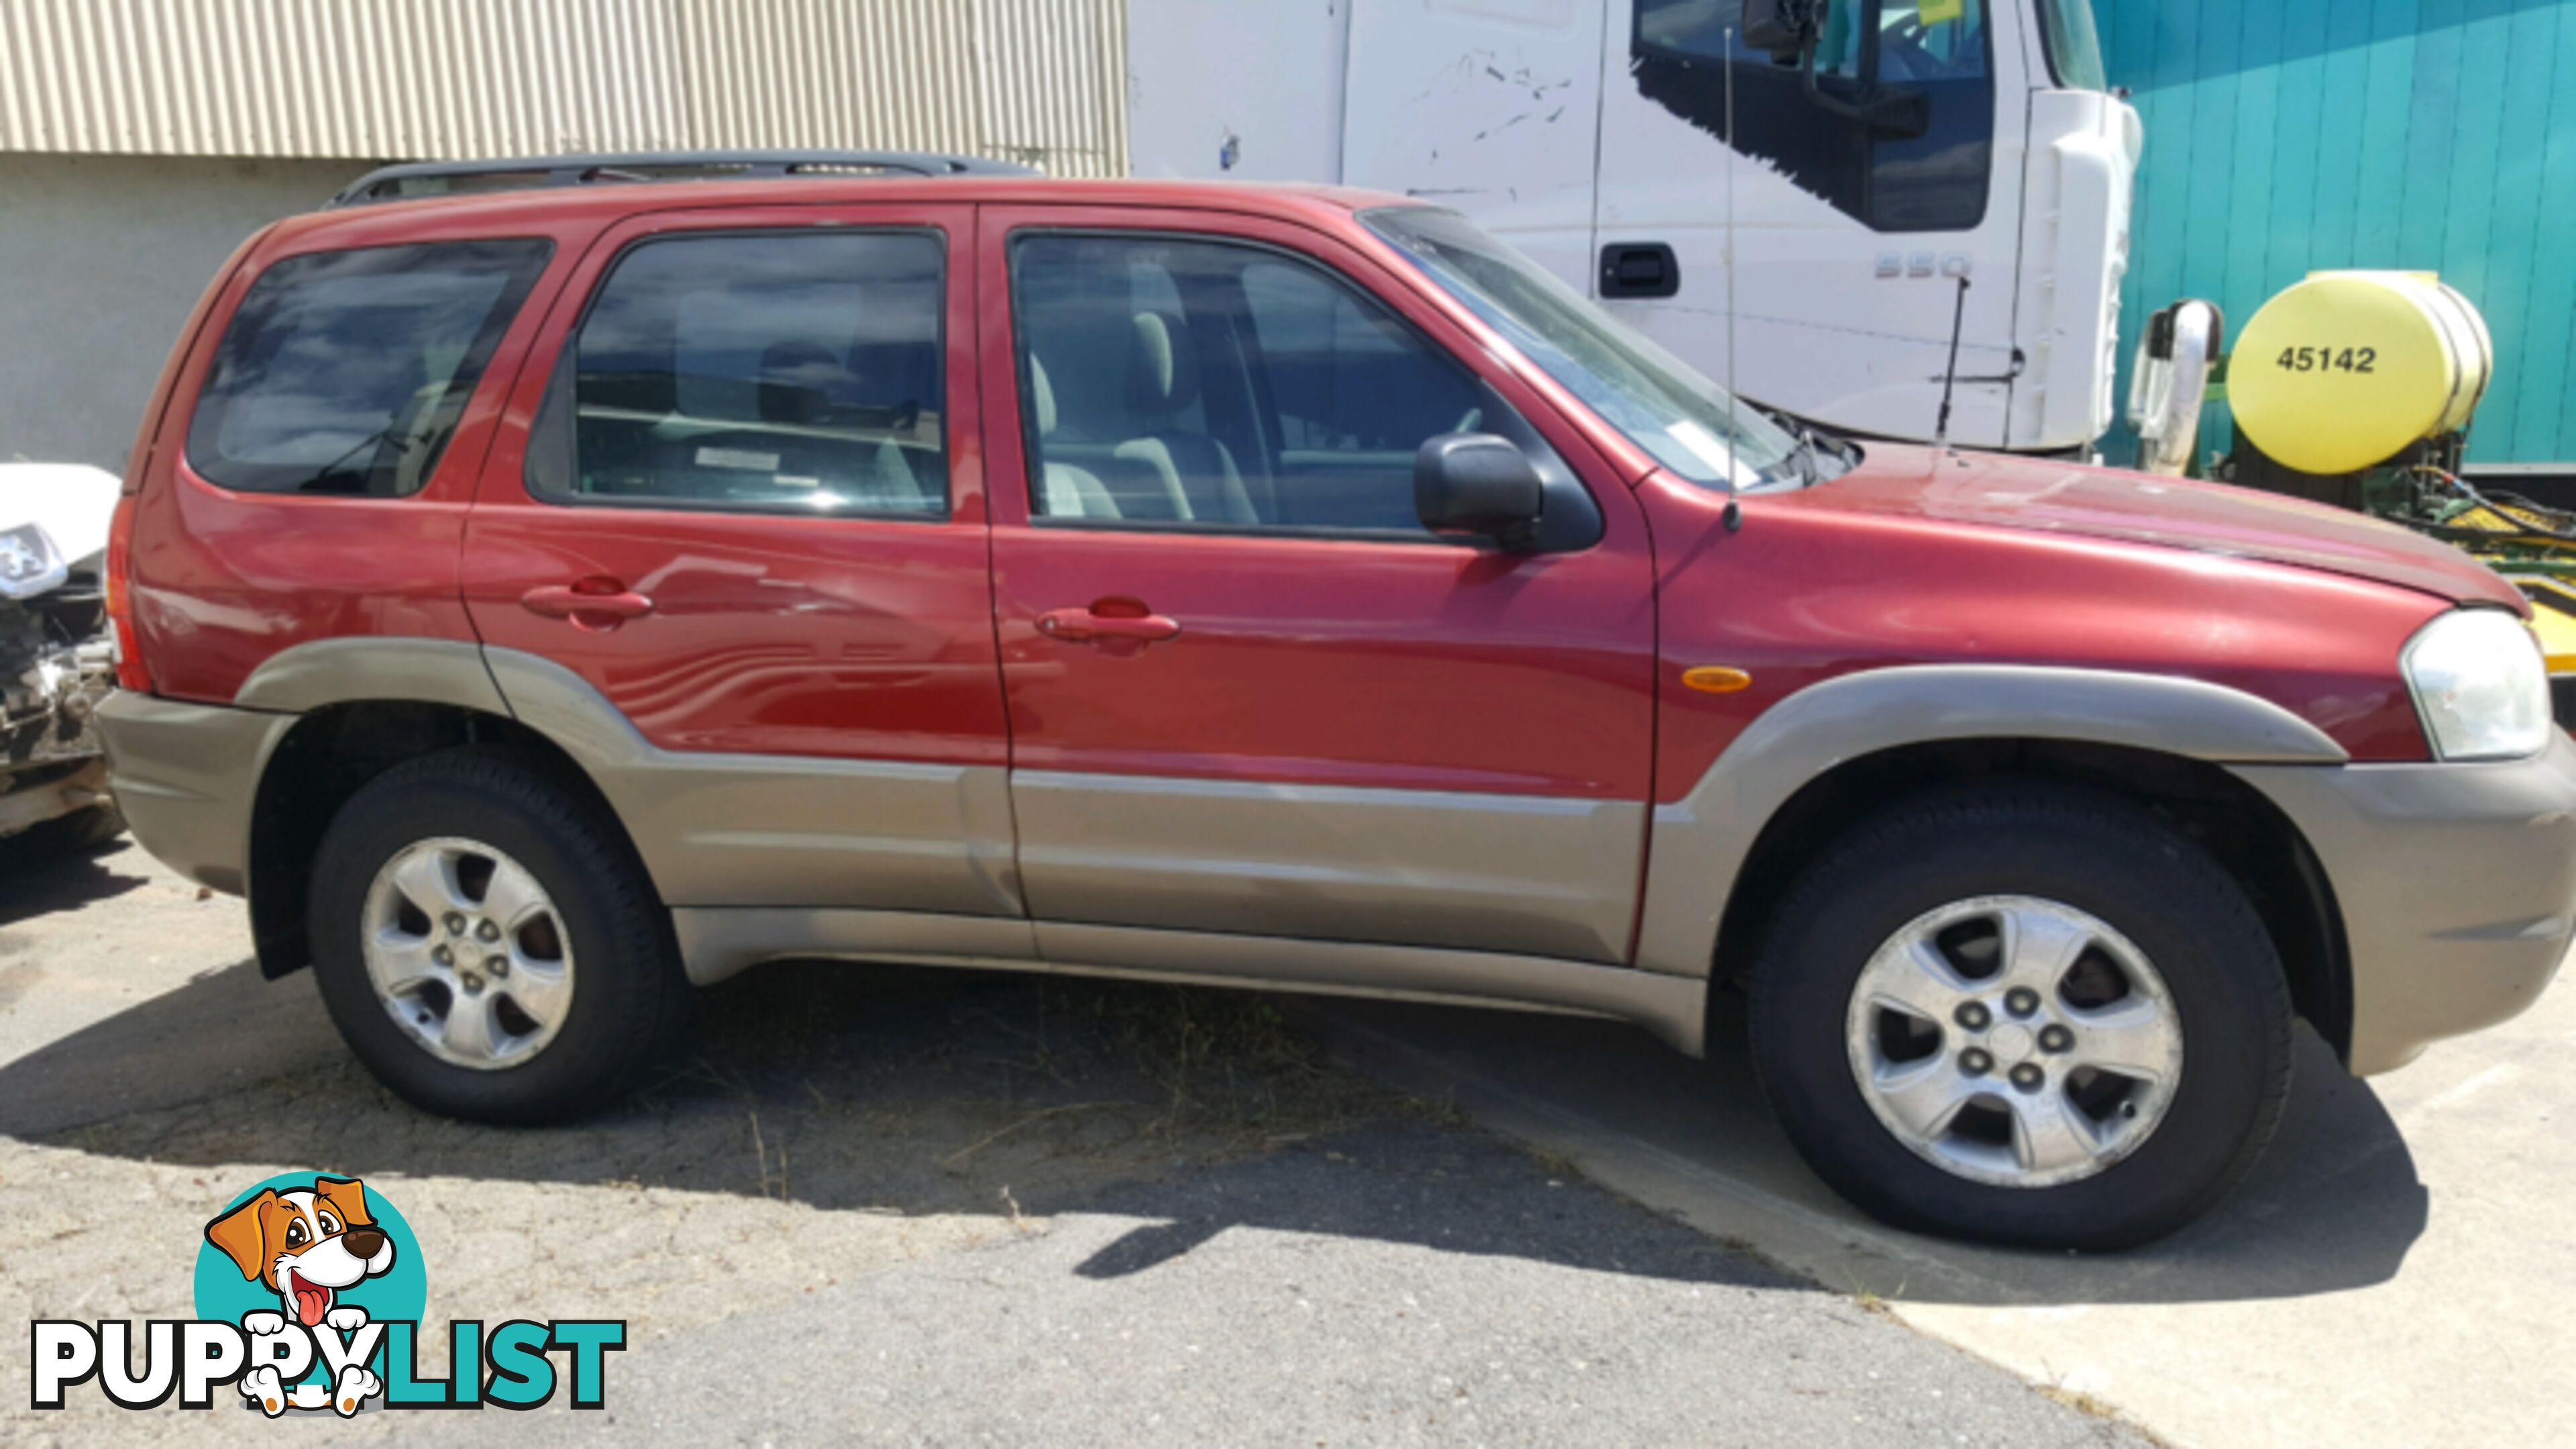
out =
<path fill-rule="evenodd" d="M 2576 459 L 2576 0 L 2094 0 L 2146 121 L 2146 315 L 2236 330 L 2318 268 L 2439 271 L 2496 333 L 2470 462 Z M 2202 446 L 2223 438 L 2202 436 Z"/>

